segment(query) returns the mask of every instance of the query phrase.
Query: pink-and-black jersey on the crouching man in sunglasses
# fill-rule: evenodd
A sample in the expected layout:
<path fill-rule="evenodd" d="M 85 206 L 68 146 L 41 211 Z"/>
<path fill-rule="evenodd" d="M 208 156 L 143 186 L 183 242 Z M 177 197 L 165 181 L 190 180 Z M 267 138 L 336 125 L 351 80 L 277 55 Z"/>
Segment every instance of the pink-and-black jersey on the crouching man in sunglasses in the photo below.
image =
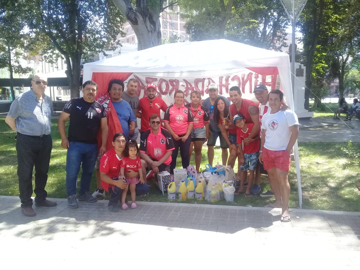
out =
<path fill-rule="evenodd" d="M 174 149 L 170 132 L 162 127 L 160 127 L 157 135 L 154 135 L 153 131 L 148 129 L 140 136 L 140 152 L 147 154 L 154 160 L 159 161 L 167 151 Z M 164 163 L 169 165 L 171 156 Z"/>

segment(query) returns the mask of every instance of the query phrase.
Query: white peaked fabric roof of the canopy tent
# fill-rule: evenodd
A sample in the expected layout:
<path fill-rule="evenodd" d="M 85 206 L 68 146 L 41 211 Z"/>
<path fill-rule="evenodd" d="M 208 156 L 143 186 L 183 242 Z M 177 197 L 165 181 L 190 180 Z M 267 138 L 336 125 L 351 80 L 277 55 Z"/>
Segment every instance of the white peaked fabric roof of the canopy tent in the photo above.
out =
<path fill-rule="evenodd" d="M 219 39 L 163 44 L 87 63 L 92 72 L 183 72 L 289 65 L 289 55 Z"/>

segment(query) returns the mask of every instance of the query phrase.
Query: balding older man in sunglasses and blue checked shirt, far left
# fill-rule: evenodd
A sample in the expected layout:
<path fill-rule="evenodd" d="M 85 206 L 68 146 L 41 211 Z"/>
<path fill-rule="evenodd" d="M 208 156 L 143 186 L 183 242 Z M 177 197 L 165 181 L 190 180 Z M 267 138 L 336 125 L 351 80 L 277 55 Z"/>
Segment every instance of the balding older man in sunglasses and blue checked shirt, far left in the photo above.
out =
<path fill-rule="evenodd" d="M 36 215 L 31 199 L 34 166 L 35 206 L 51 207 L 57 204 L 46 199 L 48 194 L 45 190 L 53 145 L 50 135 L 51 116 L 54 115 L 53 102 L 44 94 L 47 85 L 47 78 L 36 73 L 31 81 L 32 90 L 15 98 L 5 118 L 5 122 L 17 132 L 19 197 L 21 212 L 25 216 Z"/>

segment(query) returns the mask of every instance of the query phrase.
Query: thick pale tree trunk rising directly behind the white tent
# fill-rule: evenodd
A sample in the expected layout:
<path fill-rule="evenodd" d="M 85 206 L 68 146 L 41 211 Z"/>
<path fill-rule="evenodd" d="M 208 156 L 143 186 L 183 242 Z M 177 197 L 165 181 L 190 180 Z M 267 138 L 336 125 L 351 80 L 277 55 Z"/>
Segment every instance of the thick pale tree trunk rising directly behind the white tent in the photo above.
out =
<path fill-rule="evenodd" d="M 125 15 L 138 38 L 138 50 L 161 45 L 161 28 L 159 16 L 163 1 L 153 1 L 151 10 L 148 1 L 136 0 L 136 7 L 129 0 L 113 0 L 118 9 Z"/>

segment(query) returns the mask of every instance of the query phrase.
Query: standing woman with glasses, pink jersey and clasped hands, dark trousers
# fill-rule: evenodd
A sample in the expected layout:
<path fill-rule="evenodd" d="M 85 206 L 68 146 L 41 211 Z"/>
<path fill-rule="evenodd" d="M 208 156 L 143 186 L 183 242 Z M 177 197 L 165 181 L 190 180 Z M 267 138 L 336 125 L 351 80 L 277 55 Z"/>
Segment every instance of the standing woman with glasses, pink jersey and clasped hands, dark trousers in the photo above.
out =
<path fill-rule="evenodd" d="M 181 163 L 183 168 L 189 166 L 189 148 L 191 143 L 190 133 L 193 129 L 193 114 L 188 107 L 184 105 L 184 92 L 181 90 L 175 91 L 174 104 L 167 107 L 164 114 L 164 126 L 167 129 L 174 142 L 175 149 L 172 151 L 170 173 L 174 173 L 176 167 L 176 158 L 180 148 Z"/>

